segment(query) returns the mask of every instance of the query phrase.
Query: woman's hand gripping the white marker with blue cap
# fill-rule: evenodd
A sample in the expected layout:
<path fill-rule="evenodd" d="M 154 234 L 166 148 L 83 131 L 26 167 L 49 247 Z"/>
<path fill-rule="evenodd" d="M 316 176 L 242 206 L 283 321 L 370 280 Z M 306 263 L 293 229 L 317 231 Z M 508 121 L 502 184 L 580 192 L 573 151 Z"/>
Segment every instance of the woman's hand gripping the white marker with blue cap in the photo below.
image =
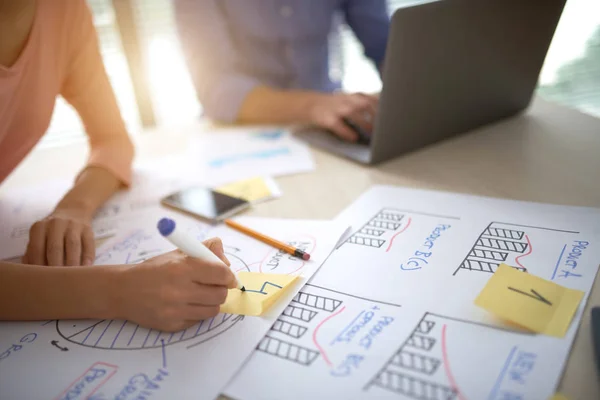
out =
<path fill-rule="evenodd" d="M 219 239 L 204 244 L 229 265 Z M 119 318 L 173 332 L 217 315 L 235 287 L 228 267 L 175 250 L 124 269 L 116 308 Z"/>

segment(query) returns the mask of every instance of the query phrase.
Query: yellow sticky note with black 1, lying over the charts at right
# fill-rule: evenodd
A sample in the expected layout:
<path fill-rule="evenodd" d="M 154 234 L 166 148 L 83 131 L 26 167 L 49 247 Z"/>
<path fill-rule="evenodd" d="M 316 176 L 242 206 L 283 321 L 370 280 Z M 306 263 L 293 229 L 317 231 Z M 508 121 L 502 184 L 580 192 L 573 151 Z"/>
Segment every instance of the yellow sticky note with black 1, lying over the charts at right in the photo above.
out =
<path fill-rule="evenodd" d="M 580 290 L 501 264 L 475 304 L 534 332 L 563 337 L 582 298 Z"/>

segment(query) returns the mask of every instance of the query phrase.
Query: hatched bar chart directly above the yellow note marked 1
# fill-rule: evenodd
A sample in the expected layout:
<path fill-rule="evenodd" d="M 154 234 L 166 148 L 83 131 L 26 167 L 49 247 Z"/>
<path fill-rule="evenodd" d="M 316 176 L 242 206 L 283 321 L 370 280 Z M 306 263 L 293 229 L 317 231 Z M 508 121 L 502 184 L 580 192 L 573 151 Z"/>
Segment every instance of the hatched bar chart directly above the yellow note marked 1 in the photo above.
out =
<path fill-rule="evenodd" d="M 505 263 L 520 271 L 527 270 L 527 261 L 534 251 L 535 237 L 568 241 L 578 232 L 550 228 L 522 226 L 501 222 L 491 222 L 479 235 L 460 266 L 454 271 L 479 271 L 494 273 L 500 264 Z"/>

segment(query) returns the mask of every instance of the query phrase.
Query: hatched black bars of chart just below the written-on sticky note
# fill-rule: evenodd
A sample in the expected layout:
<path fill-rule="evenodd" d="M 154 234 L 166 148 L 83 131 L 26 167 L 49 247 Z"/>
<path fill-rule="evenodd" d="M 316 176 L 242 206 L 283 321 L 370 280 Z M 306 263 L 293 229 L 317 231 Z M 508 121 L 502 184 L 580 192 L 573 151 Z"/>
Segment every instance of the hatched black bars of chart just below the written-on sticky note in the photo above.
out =
<path fill-rule="evenodd" d="M 307 284 L 260 341 L 257 350 L 310 366 L 319 357 L 312 334 L 321 321 L 342 307 L 343 302 L 334 295 L 334 292 Z"/>

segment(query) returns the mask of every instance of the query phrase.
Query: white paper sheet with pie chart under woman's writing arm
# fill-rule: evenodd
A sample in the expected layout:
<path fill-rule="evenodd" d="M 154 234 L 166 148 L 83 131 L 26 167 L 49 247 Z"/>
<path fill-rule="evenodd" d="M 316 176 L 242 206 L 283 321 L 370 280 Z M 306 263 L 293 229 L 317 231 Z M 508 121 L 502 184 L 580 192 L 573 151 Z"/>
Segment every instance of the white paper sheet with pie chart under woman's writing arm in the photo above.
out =
<path fill-rule="evenodd" d="M 129 220 L 131 232 L 99 249 L 96 263 L 138 263 L 171 250 L 156 230 L 160 216 L 149 211 Z M 185 217 L 177 222 L 178 229 L 198 240 L 221 237 L 234 271 L 288 273 L 301 279 L 262 317 L 220 314 L 174 334 L 116 320 L 2 323 L 0 398 L 215 398 L 347 228 L 329 222 L 240 219 L 306 248 L 312 258 L 304 262 L 226 227 L 211 228 Z"/>

